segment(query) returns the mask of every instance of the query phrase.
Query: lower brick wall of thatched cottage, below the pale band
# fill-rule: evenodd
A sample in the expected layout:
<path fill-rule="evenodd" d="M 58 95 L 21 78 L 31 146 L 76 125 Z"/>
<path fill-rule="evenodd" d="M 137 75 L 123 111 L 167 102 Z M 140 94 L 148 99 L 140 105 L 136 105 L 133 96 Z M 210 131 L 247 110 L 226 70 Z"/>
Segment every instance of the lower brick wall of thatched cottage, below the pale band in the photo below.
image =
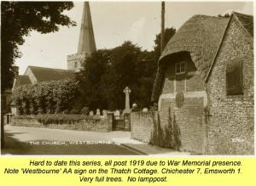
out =
<path fill-rule="evenodd" d="M 160 110 L 160 125 L 166 128 L 175 123 L 179 135 L 177 144 L 181 151 L 204 154 L 205 125 L 203 98 L 185 98 L 181 108 L 175 99 L 163 99 Z"/>

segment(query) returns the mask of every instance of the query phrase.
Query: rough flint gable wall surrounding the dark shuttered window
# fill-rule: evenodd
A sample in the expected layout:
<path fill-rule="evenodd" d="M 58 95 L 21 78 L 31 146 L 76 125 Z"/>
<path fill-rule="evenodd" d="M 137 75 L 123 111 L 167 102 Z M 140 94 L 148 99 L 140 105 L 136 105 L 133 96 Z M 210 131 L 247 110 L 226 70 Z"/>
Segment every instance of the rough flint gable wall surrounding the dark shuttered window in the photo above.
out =
<path fill-rule="evenodd" d="M 253 155 L 253 38 L 233 17 L 207 81 L 207 154 Z M 243 59 L 243 94 L 226 95 L 226 64 Z"/>

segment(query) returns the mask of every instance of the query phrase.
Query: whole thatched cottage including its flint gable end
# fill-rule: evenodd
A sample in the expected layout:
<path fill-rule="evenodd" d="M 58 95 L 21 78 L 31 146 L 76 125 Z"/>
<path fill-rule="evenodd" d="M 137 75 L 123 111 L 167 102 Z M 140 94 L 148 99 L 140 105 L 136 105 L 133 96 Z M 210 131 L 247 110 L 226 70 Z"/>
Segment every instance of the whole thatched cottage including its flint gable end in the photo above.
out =
<path fill-rule="evenodd" d="M 152 100 L 170 110 L 181 149 L 253 155 L 253 16 L 195 15 L 160 56 Z"/>

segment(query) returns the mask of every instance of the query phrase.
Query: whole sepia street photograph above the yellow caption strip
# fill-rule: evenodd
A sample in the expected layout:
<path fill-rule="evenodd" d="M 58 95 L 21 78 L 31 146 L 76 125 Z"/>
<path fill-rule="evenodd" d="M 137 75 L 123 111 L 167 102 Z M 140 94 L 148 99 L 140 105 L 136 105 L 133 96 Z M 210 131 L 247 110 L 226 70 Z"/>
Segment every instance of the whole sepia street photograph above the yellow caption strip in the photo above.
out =
<path fill-rule="evenodd" d="M 1 155 L 254 155 L 253 1 L 2 1 Z"/>

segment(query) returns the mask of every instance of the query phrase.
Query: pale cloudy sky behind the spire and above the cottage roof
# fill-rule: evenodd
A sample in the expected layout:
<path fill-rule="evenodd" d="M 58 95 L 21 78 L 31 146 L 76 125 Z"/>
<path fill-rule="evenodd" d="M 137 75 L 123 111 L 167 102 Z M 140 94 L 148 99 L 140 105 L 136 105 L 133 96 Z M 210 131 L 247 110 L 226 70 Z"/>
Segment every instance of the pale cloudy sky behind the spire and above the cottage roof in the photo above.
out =
<path fill-rule="evenodd" d="M 82 2 L 75 2 L 67 15 L 77 26 L 61 27 L 60 31 L 39 34 L 32 31 L 20 46 L 23 54 L 16 65 L 23 74 L 27 65 L 67 69 L 67 55 L 78 49 Z M 253 14 L 253 3 L 166 3 L 166 27 L 178 29 L 194 14 L 217 15 L 235 10 Z M 90 3 L 96 48 L 114 48 L 130 40 L 143 49 L 152 50 L 155 35 L 160 33 L 160 2 L 93 2 Z"/>

